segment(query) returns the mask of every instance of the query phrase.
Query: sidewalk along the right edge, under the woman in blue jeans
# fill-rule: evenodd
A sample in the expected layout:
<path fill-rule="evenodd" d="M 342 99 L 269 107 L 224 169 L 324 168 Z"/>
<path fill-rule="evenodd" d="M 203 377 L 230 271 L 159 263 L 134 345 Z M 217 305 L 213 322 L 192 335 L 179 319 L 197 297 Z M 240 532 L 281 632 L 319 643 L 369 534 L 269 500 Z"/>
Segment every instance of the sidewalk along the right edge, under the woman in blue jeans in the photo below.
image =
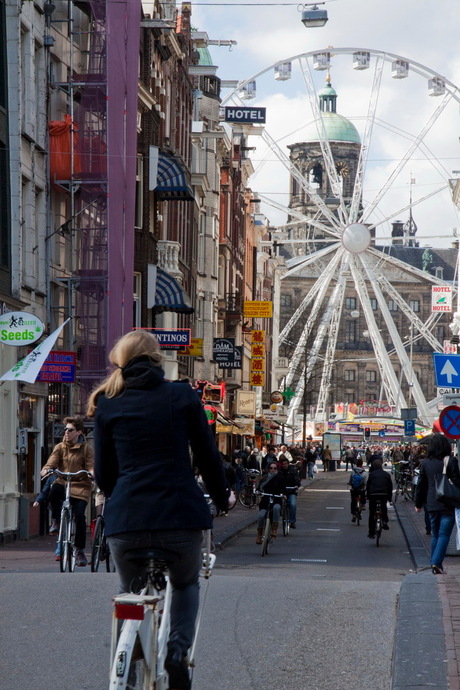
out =
<path fill-rule="evenodd" d="M 416 513 L 413 502 L 401 498 L 395 510 L 415 573 L 401 586 L 393 690 L 460 690 L 460 551 L 446 557 L 444 575 L 432 575 L 423 512 Z M 452 544 L 448 553 L 455 551 Z"/>

